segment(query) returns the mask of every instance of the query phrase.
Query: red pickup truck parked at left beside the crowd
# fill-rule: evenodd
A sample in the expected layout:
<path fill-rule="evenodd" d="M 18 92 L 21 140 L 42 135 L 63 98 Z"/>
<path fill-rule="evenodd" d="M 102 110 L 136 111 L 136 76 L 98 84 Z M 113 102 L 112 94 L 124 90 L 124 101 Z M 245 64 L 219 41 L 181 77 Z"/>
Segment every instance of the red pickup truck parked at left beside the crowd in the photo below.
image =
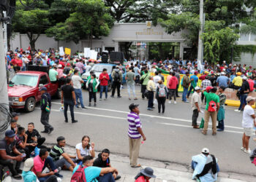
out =
<path fill-rule="evenodd" d="M 61 97 L 59 84 L 50 82 L 47 73 L 42 71 L 22 71 L 13 76 L 8 85 L 8 98 L 12 108 L 25 108 L 34 111 L 36 103 L 41 99 L 39 85 L 47 88 L 50 95 Z"/>

